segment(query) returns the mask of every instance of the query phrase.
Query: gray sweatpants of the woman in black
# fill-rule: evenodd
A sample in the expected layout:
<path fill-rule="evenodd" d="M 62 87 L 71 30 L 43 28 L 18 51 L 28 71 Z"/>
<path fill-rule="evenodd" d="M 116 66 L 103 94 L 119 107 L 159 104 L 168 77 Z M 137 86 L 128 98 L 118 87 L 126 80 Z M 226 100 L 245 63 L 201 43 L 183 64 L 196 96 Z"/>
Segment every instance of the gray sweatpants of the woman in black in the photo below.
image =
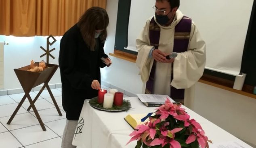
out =
<path fill-rule="evenodd" d="M 72 145 L 72 141 L 74 138 L 76 125 L 78 124 L 78 121 L 74 120 L 67 120 L 63 136 L 62 136 L 62 142 L 61 142 L 61 148 L 76 148 L 76 146 Z"/>

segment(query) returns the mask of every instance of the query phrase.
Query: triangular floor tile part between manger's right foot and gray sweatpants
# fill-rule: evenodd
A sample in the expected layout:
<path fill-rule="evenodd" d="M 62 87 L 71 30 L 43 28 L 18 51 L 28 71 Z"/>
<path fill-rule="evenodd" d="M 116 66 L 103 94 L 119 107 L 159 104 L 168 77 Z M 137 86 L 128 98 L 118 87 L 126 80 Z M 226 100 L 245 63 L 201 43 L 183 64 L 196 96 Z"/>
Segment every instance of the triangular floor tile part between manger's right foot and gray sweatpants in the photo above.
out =
<path fill-rule="evenodd" d="M 49 127 L 52 131 L 57 133 L 59 136 L 62 136 L 65 125 L 66 125 L 66 121 L 67 121 L 66 119 L 61 119 L 61 120 L 45 123 L 45 125 Z"/>

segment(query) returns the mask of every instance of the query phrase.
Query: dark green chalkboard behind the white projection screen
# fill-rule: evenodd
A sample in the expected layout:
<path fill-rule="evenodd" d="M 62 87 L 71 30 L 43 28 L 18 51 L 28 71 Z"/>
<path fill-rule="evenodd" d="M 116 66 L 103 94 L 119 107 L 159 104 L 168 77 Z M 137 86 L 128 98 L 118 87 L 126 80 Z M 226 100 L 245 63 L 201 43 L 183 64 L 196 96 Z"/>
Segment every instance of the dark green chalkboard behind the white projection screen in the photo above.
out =
<path fill-rule="evenodd" d="M 137 55 L 137 52 L 124 49 L 128 44 L 130 6 L 131 0 L 119 0 L 115 32 L 115 49 Z M 207 69 L 205 69 L 204 73 L 223 79 L 235 80 L 235 77 L 232 75 L 218 73 Z M 245 84 L 252 86 L 256 85 L 256 0 L 254 0 L 252 15 L 243 50 L 241 73 L 247 73 Z"/>

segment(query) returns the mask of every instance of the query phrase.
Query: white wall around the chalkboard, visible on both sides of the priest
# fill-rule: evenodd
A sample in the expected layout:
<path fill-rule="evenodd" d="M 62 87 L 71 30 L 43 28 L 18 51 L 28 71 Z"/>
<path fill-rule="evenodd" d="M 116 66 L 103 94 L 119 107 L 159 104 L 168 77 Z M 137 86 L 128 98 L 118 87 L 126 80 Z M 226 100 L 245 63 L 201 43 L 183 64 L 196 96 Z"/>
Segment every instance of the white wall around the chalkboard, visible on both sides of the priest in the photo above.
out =
<path fill-rule="evenodd" d="M 113 53 L 118 0 L 107 0 L 110 24 L 105 52 Z M 133 94 L 141 93 L 142 82 L 134 63 L 110 56 L 113 65 L 102 69 L 102 80 Z M 196 84 L 195 112 L 256 148 L 256 99 Z M 206 133 L 207 134 L 207 133 Z"/>

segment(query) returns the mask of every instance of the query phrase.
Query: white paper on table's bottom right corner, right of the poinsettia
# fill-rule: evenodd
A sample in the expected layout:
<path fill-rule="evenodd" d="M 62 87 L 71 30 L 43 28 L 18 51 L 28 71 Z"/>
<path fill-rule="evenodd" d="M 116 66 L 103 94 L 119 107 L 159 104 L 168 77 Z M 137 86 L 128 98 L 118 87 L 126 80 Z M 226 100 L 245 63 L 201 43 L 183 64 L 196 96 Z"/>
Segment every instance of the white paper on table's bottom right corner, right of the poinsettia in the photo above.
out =
<path fill-rule="evenodd" d="M 248 144 L 239 141 L 209 144 L 209 148 L 252 148 Z"/>

